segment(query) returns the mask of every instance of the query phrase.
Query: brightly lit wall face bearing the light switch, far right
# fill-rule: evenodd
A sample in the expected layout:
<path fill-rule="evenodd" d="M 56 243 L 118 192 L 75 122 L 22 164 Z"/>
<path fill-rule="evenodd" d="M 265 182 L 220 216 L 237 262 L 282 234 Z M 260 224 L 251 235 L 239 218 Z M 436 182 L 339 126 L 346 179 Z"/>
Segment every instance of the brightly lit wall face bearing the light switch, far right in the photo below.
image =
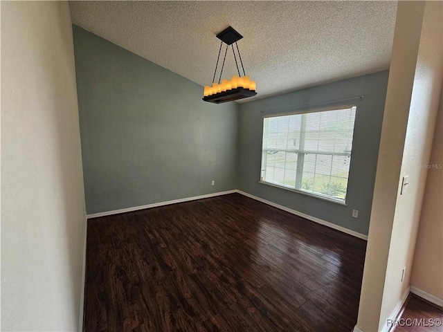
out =
<path fill-rule="evenodd" d="M 440 1 L 426 1 L 424 10 L 399 181 L 401 182 L 403 176 L 409 176 L 409 185 L 406 193 L 397 196 L 380 329 L 386 326 L 386 320 L 410 283 L 428 173 L 427 169 L 422 169 L 419 165 L 428 164 L 431 157 L 443 79 L 442 4 Z M 442 217 L 440 215 L 440 218 Z M 406 273 L 404 282 L 401 282 L 404 267 Z"/>

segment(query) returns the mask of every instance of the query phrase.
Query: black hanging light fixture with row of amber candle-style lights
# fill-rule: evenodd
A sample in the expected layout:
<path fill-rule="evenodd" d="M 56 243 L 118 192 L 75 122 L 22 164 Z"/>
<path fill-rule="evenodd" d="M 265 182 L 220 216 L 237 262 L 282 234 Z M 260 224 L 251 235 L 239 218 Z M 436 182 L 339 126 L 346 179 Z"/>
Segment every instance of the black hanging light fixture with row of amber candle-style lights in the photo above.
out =
<path fill-rule="evenodd" d="M 239 100 L 242 98 L 253 97 L 257 93 L 255 92 L 255 82 L 251 81 L 251 77 L 246 75 L 244 72 L 244 66 L 242 62 L 242 56 L 240 55 L 240 50 L 237 45 L 237 41 L 243 38 L 242 35 L 237 33 L 237 31 L 229 26 L 225 30 L 221 31 L 217 35 L 217 38 L 221 40 L 219 48 L 219 56 L 217 57 L 217 64 L 215 65 L 213 85 L 204 87 L 204 98 L 205 102 L 213 102 L 215 104 L 221 104 L 222 102 L 232 102 L 233 100 Z M 219 65 L 221 46 L 223 43 L 226 44 L 226 49 L 224 51 L 223 64 L 221 64 L 221 71 L 219 75 L 218 83 L 215 82 L 215 74 L 217 73 L 217 67 Z M 237 62 L 237 55 L 235 55 L 235 48 L 237 48 L 237 55 L 239 62 L 242 65 L 243 76 L 241 75 Z M 224 62 L 226 60 L 226 53 L 228 53 L 228 48 L 231 46 L 233 50 L 233 55 L 235 59 L 235 65 L 237 66 L 238 76 L 231 77 L 230 80 L 221 80 L 221 74 L 223 73 Z"/>

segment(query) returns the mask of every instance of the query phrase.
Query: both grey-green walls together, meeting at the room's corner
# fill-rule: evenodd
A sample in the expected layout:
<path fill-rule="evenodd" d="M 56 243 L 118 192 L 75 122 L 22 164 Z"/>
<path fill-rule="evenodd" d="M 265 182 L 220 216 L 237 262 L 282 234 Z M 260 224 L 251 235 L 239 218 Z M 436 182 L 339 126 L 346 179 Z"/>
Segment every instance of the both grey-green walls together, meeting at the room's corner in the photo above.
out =
<path fill-rule="evenodd" d="M 78 26 L 73 34 L 88 214 L 239 189 L 368 234 L 388 71 L 214 105 L 198 84 Z M 355 95 L 365 98 L 319 106 L 357 106 L 346 206 L 259 183 L 263 111 Z"/>

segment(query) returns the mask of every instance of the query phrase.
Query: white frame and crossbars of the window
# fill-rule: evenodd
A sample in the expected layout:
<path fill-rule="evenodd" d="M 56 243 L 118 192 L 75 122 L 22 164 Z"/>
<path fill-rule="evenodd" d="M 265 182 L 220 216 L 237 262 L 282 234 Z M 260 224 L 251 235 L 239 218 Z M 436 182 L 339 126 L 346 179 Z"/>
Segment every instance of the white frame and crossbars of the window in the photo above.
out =
<path fill-rule="evenodd" d="M 349 179 L 350 179 L 350 175 L 351 175 L 351 165 L 352 165 L 352 148 L 351 151 L 349 152 L 349 154 L 346 153 L 327 153 L 330 154 L 332 156 L 349 156 L 350 158 L 350 166 L 349 166 L 349 171 L 347 174 L 347 185 L 346 185 L 346 192 L 345 192 L 345 199 L 334 199 L 334 197 L 326 195 L 326 194 L 321 194 L 318 192 L 311 192 L 309 190 L 303 190 L 301 187 L 300 189 L 296 189 L 296 185 L 295 187 L 289 186 L 289 185 L 284 185 L 284 184 L 279 184 L 279 183 L 271 183 L 271 182 L 267 182 L 264 181 L 264 176 L 263 176 L 263 172 L 266 172 L 266 158 L 263 158 L 264 156 L 264 151 L 268 151 L 269 149 L 264 149 L 265 147 L 265 119 L 266 118 L 278 118 L 278 117 L 282 117 L 282 116 L 296 116 L 296 115 L 302 115 L 302 114 L 308 114 L 308 113 L 318 113 L 318 112 L 325 112 L 325 111 L 337 111 L 337 110 L 341 110 L 341 109 L 355 109 L 355 117 L 354 117 L 354 123 L 352 126 L 352 147 L 354 146 L 354 136 L 355 136 L 355 125 L 356 125 L 356 118 L 357 118 L 357 105 L 356 104 L 342 104 L 342 105 L 336 105 L 336 106 L 331 106 L 331 107 L 322 107 L 320 109 L 301 109 L 301 110 L 297 110 L 297 111 L 289 111 L 289 112 L 284 112 L 284 113 L 268 113 L 264 116 L 262 116 L 262 147 L 261 147 L 261 163 L 260 163 L 260 181 L 259 183 L 262 183 L 264 185 L 270 185 L 271 187 L 277 187 L 283 190 L 289 190 L 291 192 L 296 192 L 298 194 L 304 194 L 307 196 L 311 196 L 314 197 L 316 199 L 322 199 L 324 201 L 329 201 L 332 203 L 336 203 L 339 205 L 347 205 L 346 204 L 346 200 L 347 200 L 347 193 L 349 190 Z M 300 152 L 307 152 L 307 150 L 301 150 L 301 149 L 279 149 L 279 148 L 275 148 L 275 151 L 286 151 L 286 152 L 293 152 L 293 153 L 297 153 L 299 154 Z M 309 151 L 308 151 L 309 152 Z M 321 151 L 311 151 L 313 152 L 313 154 L 320 154 L 323 155 L 322 153 L 318 153 Z M 323 151 L 325 152 L 325 151 Z M 304 156 L 303 156 L 304 157 Z M 298 160 L 298 158 L 297 158 Z M 302 161 L 300 162 L 301 165 L 303 165 Z M 299 169 L 299 167 L 297 167 L 296 169 L 296 181 L 302 181 L 302 177 L 300 177 L 299 175 L 302 174 L 302 167 Z M 300 180 L 299 180 L 300 178 Z"/>

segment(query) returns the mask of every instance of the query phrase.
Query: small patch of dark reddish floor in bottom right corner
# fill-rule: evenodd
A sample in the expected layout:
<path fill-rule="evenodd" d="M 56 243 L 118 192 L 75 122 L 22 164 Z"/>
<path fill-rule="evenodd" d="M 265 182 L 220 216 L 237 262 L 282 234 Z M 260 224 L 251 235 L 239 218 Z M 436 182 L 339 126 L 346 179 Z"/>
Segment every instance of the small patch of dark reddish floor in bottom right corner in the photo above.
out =
<path fill-rule="evenodd" d="M 410 295 L 410 299 L 395 332 L 442 332 L 443 311 L 425 300 Z"/>

